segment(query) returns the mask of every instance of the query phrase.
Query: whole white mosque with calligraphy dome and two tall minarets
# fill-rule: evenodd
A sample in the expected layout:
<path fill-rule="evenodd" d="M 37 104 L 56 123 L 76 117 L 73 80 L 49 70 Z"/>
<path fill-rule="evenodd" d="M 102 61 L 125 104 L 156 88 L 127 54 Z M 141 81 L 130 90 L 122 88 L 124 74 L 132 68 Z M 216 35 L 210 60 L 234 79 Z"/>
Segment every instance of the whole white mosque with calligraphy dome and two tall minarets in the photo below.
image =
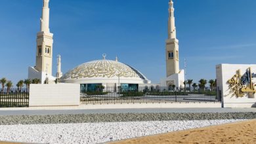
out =
<path fill-rule="evenodd" d="M 74 67 L 64 75 L 61 71 L 61 58 L 58 55 L 56 77 L 53 76 L 53 33 L 49 29 L 49 0 L 43 0 L 41 31 L 37 33 L 35 66 L 28 68 L 28 79 L 40 79 L 41 83 L 54 83 L 56 79 L 64 83 L 81 84 L 81 89 L 94 89 L 96 86 L 127 86 L 136 89 L 139 86 L 184 86 L 184 70 L 179 69 L 179 41 L 176 37 L 173 0 L 169 1 L 168 39 L 165 59 L 167 77 L 160 84 L 152 84 L 145 75 L 131 65 L 116 60 L 85 62 Z M 163 57 L 164 58 L 164 57 Z"/>

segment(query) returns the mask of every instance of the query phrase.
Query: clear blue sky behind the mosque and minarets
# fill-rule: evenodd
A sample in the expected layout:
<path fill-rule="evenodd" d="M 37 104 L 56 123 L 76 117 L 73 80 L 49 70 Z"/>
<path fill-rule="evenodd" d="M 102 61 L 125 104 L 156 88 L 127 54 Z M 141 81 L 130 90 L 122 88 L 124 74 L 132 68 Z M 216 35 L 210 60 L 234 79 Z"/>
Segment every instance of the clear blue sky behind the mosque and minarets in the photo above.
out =
<path fill-rule="evenodd" d="M 62 72 L 102 58 L 127 63 L 152 82 L 165 77 L 169 0 L 51 0 L 56 56 Z M 255 0 L 174 0 L 180 65 L 187 78 L 215 79 L 219 63 L 255 63 Z M 42 0 L 1 0 L 0 78 L 16 82 L 35 65 Z M 4 6 L 4 7 L 3 7 Z"/>

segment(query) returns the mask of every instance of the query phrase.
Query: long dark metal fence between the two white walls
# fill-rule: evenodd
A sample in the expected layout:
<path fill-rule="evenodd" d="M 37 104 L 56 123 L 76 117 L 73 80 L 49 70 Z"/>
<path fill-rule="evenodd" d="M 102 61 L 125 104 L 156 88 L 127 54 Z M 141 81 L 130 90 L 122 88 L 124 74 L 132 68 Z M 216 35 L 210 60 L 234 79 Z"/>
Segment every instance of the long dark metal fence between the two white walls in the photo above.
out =
<path fill-rule="evenodd" d="M 117 88 L 106 87 L 84 90 L 80 96 L 84 104 L 109 103 L 221 103 L 219 88 L 166 88 L 148 87 Z"/>

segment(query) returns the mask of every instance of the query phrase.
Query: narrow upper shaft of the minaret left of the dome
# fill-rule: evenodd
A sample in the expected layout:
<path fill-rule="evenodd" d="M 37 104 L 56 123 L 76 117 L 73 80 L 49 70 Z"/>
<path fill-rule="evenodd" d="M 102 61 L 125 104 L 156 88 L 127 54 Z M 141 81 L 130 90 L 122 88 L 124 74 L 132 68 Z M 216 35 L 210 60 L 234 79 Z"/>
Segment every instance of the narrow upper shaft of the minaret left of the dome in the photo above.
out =
<path fill-rule="evenodd" d="M 41 31 L 50 33 L 49 29 L 49 17 L 50 17 L 50 9 L 49 9 L 49 1 L 43 0 L 43 12 L 41 17 Z"/>

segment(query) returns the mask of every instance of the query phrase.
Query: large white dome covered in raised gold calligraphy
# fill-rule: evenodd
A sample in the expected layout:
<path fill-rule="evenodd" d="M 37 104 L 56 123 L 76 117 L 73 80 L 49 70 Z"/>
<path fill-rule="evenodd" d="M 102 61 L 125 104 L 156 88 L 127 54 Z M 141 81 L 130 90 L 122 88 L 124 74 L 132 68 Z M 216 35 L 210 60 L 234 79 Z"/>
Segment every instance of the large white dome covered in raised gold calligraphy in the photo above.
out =
<path fill-rule="evenodd" d="M 137 69 L 113 60 L 95 60 L 83 63 L 64 74 L 67 83 L 127 83 L 148 84 L 150 81 Z"/>

